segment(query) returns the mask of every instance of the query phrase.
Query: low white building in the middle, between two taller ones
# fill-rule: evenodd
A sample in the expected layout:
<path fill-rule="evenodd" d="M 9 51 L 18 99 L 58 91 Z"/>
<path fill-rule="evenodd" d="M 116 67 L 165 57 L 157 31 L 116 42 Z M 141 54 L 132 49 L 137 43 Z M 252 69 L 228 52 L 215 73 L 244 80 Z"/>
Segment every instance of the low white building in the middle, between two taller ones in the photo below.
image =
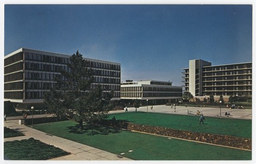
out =
<path fill-rule="evenodd" d="M 182 98 L 182 87 L 172 86 L 169 81 L 126 80 L 121 83 L 121 100 L 126 104 L 133 104 L 135 99 L 141 104 L 165 104 L 178 102 Z"/>

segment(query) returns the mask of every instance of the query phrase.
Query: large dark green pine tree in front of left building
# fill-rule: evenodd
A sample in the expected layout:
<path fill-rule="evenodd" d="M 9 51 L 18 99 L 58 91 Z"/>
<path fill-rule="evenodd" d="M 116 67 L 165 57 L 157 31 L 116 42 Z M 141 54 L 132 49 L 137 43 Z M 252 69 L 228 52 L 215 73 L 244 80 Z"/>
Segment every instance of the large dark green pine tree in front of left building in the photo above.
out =
<path fill-rule="evenodd" d="M 91 87 L 94 76 L 89 66 L 77 50 L 67 63 L 68 70 L 60 70 L 55 87 L 44 95 L 51 112 L 59 118 L 78 122 L 80 129 L 83 129 L 83 122 L 105 118 L 113 107 L 110 103 L 113 91 L 102 97 L 102 86 Z"/>

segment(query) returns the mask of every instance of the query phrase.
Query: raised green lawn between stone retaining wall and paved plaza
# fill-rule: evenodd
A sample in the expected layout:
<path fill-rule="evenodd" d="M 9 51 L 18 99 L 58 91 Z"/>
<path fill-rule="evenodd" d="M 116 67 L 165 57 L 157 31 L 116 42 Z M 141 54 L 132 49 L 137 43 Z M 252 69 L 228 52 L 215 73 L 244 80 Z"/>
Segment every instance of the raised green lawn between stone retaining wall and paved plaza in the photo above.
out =
<path fill-rule="evenodd" d="M 199 125 L 200 116 L 162 113 L 128 112 L 110 114 L 109 119 L 126 120 L 135 124 L 161 126 L 211 134 L 223 134 L 251 139 L 251 120 L 205 117 L 205 126 Z"/>

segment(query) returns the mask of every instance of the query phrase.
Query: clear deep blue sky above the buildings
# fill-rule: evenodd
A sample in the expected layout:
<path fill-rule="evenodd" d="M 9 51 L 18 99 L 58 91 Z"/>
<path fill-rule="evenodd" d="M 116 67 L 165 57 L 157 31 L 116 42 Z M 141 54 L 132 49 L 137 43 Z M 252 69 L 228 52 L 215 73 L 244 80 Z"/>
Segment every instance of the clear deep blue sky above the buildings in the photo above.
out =
<path fill-rule="evenodd" d="M 21 47 L 121 63 L 121 81 L 184 85 L 182 68 L 252 62 L 252 5 L 5 5 L 4 54 Z"/>

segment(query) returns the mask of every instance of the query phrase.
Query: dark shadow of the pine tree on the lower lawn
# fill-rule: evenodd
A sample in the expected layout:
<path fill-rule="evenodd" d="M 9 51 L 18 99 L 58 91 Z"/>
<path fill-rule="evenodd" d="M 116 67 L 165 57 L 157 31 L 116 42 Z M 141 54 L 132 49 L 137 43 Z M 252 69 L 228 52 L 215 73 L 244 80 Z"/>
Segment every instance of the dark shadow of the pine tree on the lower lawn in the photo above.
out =
<path fill-rule="evenodd" d="M 121 130 L 112 127 L 100 126 L 95 124 L 87 124 L 83 126 L 83 130 L 79 129 L 79 124 L 67 127 L 70 133 L 86 134 L 86 135 L 108 135 L 112 133 L 119 133 Z"/>

